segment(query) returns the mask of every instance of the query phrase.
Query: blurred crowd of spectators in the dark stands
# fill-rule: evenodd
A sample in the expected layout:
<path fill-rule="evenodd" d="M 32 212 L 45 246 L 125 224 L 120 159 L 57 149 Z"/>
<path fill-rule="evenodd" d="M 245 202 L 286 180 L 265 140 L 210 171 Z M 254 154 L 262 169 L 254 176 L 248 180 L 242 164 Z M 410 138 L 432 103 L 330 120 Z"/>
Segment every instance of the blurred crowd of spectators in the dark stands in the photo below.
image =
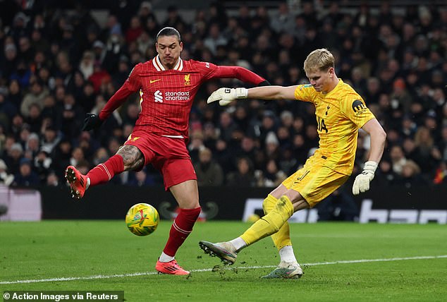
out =
<path fill-rule="evenodd" d="M 80 4 L 2 2 L 0 183 L 61 186 L 69 164 L 86 173 L 114 155 L 133 130 L 138 95 L 97 131 L 81 131 L 85 113 L 98 113 L 135 64 L 156 56 L 154 37 L 164 26 L 182 35 L 183 59 L 243 66 L 272 85 L 307 83 L 305 57 L 329 49 L 336 74 L 364 97 L 388 135 L 374 182 L 447 182 L 447 7 L 300 1 L 228 11 L 217 1 L 186 22 L 175 6 L 160 20 L 149 1 L 112 1 L 99 26 Z M 195 99 L 188 149 L 199 185 L 277 186 L 318 146 L 314 107 L 293 100 L 206 104 L 218 87 L 237 85 L 212 81 Z M 354 173 L 368 147 L 360 131 Z M 112 181 L 158 186 L 162 179 L 146 167 Z"/>

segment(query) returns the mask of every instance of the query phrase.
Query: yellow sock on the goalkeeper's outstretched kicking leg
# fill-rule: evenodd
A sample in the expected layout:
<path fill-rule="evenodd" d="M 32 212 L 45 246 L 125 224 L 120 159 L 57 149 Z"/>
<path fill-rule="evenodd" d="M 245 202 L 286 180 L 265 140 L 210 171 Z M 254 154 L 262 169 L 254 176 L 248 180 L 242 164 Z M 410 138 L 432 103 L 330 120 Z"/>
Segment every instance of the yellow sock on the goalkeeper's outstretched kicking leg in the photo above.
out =
<path fill-rule="evenodd" d="M 250 246 L 250 244 L 279 231 L 292 215 L 292 202 L 288 197 L 282 196 L 269 214 L 255 222 L 240 238 L 247 243 L 247 246 Z"/>

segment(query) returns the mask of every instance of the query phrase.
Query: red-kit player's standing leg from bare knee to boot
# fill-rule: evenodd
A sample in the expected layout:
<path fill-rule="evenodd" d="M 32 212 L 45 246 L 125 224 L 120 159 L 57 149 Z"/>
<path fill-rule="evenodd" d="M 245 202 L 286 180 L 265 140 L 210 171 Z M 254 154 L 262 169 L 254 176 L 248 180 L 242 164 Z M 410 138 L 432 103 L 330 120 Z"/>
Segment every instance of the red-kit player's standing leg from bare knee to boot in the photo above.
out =
<path fill-rule="evenodd" d="M 174 220 L 169 239 L 161 253 L 155 269 L 164 274 L 190 274 L 175 260 L 176 251 L 183 244 L 192 231 L 197 217 L 200 214 L 199 190 L 194 179 L 184 181 L 169 188 L 176 198 L 180 212 Z"/>

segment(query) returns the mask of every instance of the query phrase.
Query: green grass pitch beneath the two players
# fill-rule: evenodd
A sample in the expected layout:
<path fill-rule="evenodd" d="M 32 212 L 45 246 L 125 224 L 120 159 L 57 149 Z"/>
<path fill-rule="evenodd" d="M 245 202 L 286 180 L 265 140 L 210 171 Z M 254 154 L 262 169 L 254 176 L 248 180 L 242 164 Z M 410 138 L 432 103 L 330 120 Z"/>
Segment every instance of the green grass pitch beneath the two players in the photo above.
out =
<path fill-rule="evenodd" d="M 154 270 L 168 221 L 146 237 L 124 221 L 0 222 L 0 292 L 114 290 L 126 301 L 446 301 L 445 225 L 291 224 L 305 272 L 298 280 L 259 278 L 278 264 L 270 238 L 243 250 L 231 267 L 198 247 L 249 225 L 197 223 L 176 256 L 192 271 L 181 277 Z"/>

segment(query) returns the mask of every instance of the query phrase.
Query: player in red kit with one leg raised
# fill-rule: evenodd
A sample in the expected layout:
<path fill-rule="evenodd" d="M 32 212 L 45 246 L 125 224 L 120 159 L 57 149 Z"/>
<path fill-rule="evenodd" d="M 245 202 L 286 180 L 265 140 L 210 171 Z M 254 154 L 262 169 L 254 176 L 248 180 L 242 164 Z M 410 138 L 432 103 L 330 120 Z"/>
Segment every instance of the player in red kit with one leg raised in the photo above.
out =
<path fill-rule="evenodd" d="M 177 264 L 174 257 L 192 231 L 201 210 L 197 176 L 185 144 L 192 101 L 200 85 L 212 78 L 238 78 L 255 85 L 269 83 L 239 66 L 184 61 L 180 58 L 183 43 L 175 28 L 160 30 L 155 48 L 158 55 L 137 64 L 99 116 L 87 114 L 83 127 L 86 131 L 99 127 L 129 95 L 140 92 L 141 112 L 133 133 L 116 155 L 94 167 L 87 175 L 68 166 L 66 179 L 73 198 L 82 198 L 90 186 L 110 181 L 123 171 L 139 170 L 152 164 L 163 175 L 166 191 L 171 191 L 180 207 L 155 269 L 165 274 L 190 274 Z"/>

